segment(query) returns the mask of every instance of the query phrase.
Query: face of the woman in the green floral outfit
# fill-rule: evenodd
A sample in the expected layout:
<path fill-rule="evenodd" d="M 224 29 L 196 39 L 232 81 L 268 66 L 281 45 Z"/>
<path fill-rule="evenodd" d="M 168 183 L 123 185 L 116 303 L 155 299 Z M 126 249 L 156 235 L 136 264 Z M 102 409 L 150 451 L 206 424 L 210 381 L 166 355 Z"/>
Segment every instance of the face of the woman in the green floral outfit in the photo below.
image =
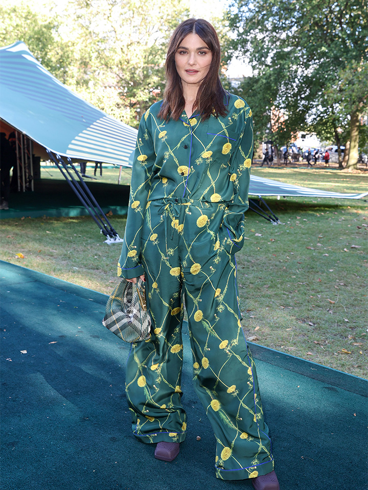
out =
<path fill-rule="evenodd" d="M 212 52 L 198 34 L 188 34 L 175 53 L 175 66 L 183 84 L 200 84 L 210 70 Z"/>

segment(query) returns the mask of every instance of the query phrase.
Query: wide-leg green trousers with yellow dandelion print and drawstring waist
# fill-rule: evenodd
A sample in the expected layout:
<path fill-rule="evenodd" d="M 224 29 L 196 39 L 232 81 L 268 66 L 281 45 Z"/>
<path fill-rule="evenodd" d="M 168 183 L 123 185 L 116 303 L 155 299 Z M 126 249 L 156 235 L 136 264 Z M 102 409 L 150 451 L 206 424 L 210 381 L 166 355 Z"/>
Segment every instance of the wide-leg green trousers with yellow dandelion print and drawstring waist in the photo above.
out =
<path fill-rule="evenodd" d="M 134 435 L 142 442 L 185 439 L 185 302 L 193 384 L 217 441 L 216 476 L 240 480 L 272 471 L 273 457 L 256 367 L 240 324 L 235 258 L 224 250 L 219 232 L 223 211 L 223 205 L 185 199 L 149 203 L 142 259 L 153 332 L 132 345 L 126 395 Z"/>

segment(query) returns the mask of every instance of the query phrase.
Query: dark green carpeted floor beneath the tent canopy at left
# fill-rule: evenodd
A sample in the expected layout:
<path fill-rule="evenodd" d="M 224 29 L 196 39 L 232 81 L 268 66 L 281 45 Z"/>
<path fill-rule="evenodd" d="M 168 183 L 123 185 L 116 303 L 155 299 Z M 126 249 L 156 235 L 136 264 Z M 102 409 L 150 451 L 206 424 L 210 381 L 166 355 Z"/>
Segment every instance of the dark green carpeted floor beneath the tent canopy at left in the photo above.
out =
<path fill-rule="evenodd" d="M 104 213 L 124 215 L 128 210 L 129 186 L 85 179 Z M 37 179 L 34 192 L 10 194 L 9 209 L 0 218 L 42 216 L 85 216 L 88 212 L 66 180 Z"/>

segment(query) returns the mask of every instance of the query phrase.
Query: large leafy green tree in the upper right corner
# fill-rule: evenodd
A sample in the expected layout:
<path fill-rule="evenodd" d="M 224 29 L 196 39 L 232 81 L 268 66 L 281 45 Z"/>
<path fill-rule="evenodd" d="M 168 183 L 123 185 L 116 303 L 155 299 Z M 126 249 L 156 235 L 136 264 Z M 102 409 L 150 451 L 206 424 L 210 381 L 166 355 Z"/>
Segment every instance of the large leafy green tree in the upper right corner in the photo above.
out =
<path fill-rule="evenodd" d="M 366 11 L 366 0 L 237 0 L 233 4 L 227 14 L 236 34 L 230 50 L 249 58 L 256 87 L 263 80 L 270 93 L 268 105 L 283 114 L 273 128 L 276 139 L 288 132 L 318 131 L 326 120 L 336 138 L 337 130 L 343 130 L 348 121 L 354 138 L 349 165 L 356 164 L 357 120 L 366 110 L 366 82 L 353 77 L 359 87 L 354 93 L 359 96 L 351 96 L 347 104 L 348 90 L 342 90 L 340 77 L 358 66 L 365 72 Z M 246 80 L 241 88 L 250 91 L 251 84 Z M 265 100 L 264 91 L 256 92 L 254 98 L 257 127 L 269 107 L 257 104 Z"/>

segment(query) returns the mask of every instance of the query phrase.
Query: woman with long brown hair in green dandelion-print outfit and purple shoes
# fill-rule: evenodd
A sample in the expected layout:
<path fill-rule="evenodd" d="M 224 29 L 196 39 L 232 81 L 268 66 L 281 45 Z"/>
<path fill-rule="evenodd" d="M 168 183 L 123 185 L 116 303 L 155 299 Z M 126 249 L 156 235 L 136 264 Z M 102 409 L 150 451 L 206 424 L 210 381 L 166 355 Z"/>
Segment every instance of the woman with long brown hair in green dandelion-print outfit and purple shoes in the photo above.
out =
<path fill-rule="evenodd" d="M 126 395 L 133 433 L 172 461 L 186 437 L 183 304 L 194 386 L 217 440 L 216 476 L 278 489 L 255 365 L 243 336 L 234 254 L 244 241 L 251 111 L 222 88 L 220 45 L 202 19 L 174 31 L 164 100 L 141 120 L 118 275 L 146 281 L 152 335 L 132 345 Z"/>

